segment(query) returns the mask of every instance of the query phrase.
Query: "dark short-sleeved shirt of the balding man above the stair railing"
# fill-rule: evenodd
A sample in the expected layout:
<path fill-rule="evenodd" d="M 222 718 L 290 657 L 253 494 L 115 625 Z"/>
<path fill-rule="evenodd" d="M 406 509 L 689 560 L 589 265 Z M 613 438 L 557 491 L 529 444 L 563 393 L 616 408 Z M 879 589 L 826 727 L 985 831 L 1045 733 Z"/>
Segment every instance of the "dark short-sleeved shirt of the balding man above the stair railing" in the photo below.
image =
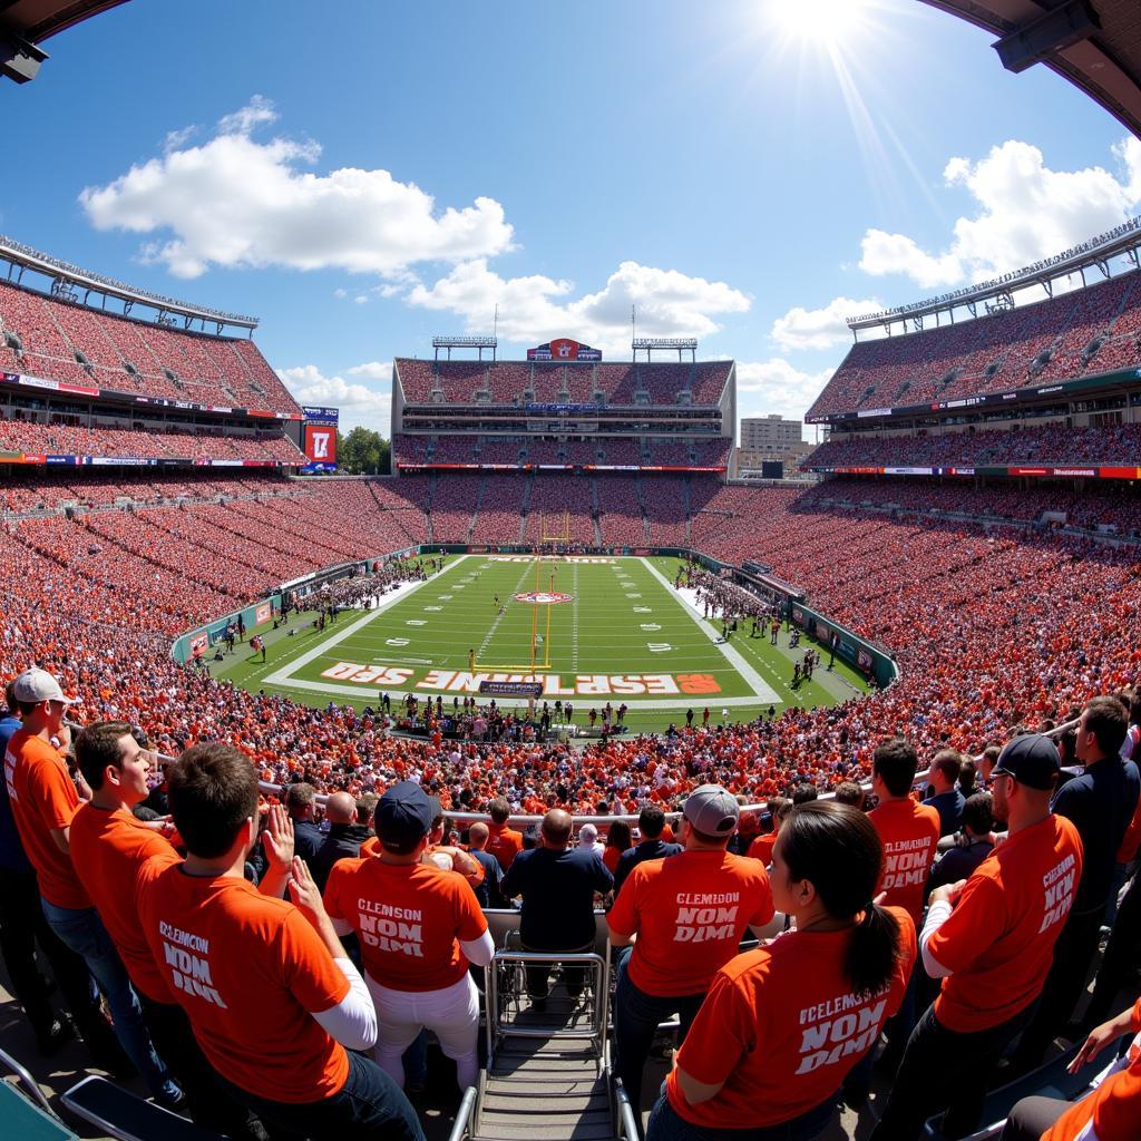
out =
<path fill-rule="evenodd" d="M 534 950 L 578 950 L 594 942 L 594 892 L 614 876 L 583 848 L 533 848 L 516 856 L 503 876 L 508 899 L 523 896 L 519 937 Z"/>

